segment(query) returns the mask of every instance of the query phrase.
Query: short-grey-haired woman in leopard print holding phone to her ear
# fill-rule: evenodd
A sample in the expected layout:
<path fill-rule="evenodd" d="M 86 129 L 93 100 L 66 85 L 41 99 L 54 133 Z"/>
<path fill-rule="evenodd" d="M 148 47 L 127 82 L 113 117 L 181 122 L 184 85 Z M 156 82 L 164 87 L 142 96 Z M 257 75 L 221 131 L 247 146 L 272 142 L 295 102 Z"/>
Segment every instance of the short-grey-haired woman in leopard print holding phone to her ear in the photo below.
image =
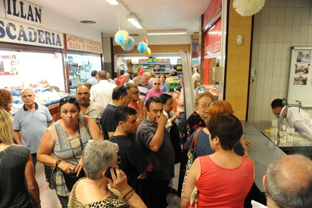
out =
<path fill-rule="evenodd" d="M 82 158 L 87 177 L 79 179 L 71 190 L 69 208 L 146 208 L 119 169 L 118 150 L 118 145 L 108 140 L 86 145 Z M 114 188 L 109 189 L 109 183 Z"/>

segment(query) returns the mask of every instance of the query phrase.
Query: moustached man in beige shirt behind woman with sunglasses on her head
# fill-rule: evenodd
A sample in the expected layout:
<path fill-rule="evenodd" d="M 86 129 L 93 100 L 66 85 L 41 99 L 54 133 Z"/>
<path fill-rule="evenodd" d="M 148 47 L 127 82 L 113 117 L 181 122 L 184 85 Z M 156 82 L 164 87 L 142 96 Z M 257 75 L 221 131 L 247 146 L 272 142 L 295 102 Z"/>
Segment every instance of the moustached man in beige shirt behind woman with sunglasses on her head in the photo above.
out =
<path fill-rule="evenodd" d="M 77 87 L 76 98 L 81 108 L 80 115 L 88 115 L 100 128 L 104 107 L 90 100 L 90 90 L 86 85 L 82 84 Z"/>

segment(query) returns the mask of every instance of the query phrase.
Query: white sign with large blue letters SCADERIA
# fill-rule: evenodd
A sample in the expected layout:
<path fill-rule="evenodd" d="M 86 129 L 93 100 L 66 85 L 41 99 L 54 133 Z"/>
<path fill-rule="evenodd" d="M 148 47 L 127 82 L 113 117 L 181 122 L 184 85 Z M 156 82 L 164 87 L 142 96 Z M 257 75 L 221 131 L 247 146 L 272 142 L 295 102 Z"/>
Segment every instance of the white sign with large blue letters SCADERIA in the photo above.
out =
<path fill-rule="evenodd" d="M 0 18 L 0 41 L 64 48 L 63 33 Z"/>

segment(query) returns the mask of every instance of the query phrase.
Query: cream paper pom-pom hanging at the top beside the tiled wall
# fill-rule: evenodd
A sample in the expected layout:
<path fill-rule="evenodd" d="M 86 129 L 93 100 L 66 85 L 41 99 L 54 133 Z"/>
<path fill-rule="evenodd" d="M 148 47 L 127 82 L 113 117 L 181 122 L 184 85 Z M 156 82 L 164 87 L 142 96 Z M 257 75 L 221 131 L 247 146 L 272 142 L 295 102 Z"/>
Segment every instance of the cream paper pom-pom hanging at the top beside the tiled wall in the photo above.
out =
<path fill-rule="evenodd" d="M 234 0 L 233 8 L 243 17 L 251 16 L 259 12 L 265 2 L 265 0 Z"/>

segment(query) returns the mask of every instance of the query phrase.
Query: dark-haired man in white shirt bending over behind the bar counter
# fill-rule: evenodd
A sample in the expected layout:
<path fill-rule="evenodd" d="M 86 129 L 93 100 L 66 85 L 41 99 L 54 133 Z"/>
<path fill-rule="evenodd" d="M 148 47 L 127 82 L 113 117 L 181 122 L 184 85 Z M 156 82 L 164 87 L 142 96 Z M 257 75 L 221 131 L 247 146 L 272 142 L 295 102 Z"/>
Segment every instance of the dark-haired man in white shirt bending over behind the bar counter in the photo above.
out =
<path fill-rule="evenodd" d="M 280 112 L 285 105 L 282 99 L 275 99 L 271 103 L 272 112 L 276 118 L 280 117 Z M 286 118 L 290 127 L 295 128 L 300 133 L 304 133 L 312 137 L 312 119 L 310 115 L 304 110 L 291 107 L 285 110 L 283 118 Z"/>

